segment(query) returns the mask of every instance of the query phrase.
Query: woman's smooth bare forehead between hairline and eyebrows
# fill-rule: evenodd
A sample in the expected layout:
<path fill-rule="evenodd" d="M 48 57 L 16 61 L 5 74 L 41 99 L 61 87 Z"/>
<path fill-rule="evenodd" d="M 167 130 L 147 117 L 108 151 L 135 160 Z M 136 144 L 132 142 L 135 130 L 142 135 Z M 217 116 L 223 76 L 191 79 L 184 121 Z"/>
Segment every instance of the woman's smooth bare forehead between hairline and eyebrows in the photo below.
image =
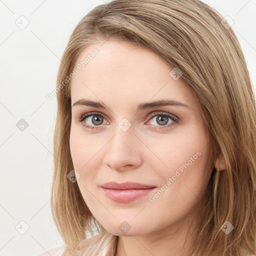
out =
<path fill-rule="evenodd" d="M 138 97 L 139 101 L 171 97 L 192 104 L 192 92 L 182 77 L 173 79 L 173 67 L 145 46 L 120 40 L 93 43 L 80 53 L 75 66 L 79 64 L 71 80 L 72 102 L 82 96 L 121 98 L 123 103 Z"/>

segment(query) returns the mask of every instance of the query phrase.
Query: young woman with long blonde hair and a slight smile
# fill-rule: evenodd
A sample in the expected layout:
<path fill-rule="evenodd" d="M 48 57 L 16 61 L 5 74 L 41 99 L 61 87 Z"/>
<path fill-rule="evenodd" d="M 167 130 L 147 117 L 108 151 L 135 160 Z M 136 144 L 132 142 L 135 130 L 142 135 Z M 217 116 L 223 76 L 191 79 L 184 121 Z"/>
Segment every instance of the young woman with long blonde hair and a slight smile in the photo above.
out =
<path fill-rule="evenodd" d="M 69 38 L 56 93 L 51 207 L 66 245 L 50 255 L 255 254 L 255 94 L 218 12 L 96 6 Z"/>

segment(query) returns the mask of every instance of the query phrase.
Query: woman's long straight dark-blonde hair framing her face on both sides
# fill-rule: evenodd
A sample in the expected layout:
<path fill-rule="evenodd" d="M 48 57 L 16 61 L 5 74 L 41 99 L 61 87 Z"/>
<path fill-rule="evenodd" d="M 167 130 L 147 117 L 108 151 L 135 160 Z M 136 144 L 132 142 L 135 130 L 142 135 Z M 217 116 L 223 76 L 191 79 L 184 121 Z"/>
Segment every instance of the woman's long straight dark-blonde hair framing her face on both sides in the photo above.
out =
<path fill-rule="evenodd" d="M 182 71 L 211 135 L 211 163 L 219 154 L 224 156 L 226 169 L 212 171 L 194 255 L 255 254 L 255 94 L 232 27 L 199 0 L 113 0 L 96 6 L 74 28 L 57 76 L 51 191 L 53 219 L 65 244 L 74 248 L 93 227 L 97 232 L 104 229 L 86 206 L 77 182 L 67 178 L 73 164 L 70 81 L 66 77 L 85 46 L 109 37 L 147 46 Z M 234 226 L 228 234 L 221 229 L 226 221 Z"/>

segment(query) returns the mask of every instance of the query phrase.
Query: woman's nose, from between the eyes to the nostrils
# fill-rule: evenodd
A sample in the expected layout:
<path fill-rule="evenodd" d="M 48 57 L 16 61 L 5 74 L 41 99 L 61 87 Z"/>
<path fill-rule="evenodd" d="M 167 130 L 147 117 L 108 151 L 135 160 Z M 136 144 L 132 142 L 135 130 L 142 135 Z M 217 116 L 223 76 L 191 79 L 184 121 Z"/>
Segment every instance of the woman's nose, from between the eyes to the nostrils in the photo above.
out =
<path fill-rule="evenodd" d="M 142 146 L 132 128 L 123 131 L 117 127 L 114 136 L 106 144 L 103 163 L 119 171 L 137 168 L 142 164 Z"/>

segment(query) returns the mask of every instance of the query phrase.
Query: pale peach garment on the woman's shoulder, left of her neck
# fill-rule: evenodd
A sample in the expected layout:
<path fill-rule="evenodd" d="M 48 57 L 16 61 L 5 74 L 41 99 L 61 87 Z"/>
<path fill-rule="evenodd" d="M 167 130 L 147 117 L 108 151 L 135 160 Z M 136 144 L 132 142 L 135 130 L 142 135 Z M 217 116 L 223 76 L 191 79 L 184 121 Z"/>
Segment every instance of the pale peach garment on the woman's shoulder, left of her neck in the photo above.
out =
<path fill-rule="evenodd" d="M 78 250 L 75 250 L 72 255 L 84 256 L 84 255 L 109 255 L 114 256 L 116 254 L 118 236 L 113 235 L 106 230 L 82 240 Z M 100 254 L 99 254 L 100 253 Z M 36 256 L 65 256 L 70 255 L 70 251 L 66 246 L 57 247 Z"/>

